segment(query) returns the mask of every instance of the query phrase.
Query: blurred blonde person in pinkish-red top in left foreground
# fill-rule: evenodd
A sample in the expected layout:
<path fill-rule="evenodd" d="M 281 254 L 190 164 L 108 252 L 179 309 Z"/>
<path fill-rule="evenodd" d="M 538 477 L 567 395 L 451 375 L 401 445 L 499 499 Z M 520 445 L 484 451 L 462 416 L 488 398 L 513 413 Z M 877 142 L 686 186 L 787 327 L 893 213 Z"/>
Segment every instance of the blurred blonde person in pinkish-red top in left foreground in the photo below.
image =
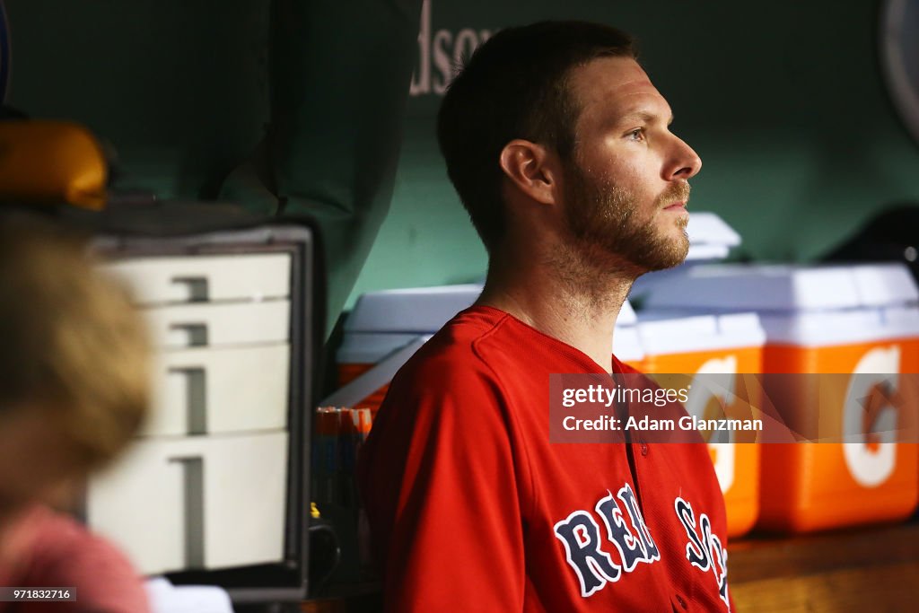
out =
<path fill-rule="evenodd" d="M 108 541 L 52 507 L 137 432 L 149 400 L 146 331 L 86 245 L 0 217 L 0 585 L 73 586 L 75 602 L 3 613 L 145 613 L 142 578 Z"/>

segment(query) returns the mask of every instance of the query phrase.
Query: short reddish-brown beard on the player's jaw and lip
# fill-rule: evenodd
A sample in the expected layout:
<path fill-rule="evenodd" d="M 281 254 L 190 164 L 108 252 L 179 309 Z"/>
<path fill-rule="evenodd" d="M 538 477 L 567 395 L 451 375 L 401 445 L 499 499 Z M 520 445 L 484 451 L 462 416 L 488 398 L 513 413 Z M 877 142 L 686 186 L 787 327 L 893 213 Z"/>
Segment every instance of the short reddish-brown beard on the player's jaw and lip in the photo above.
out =
<path fill-rule="evenodd" d="M 686 259 L 689 237 L 685 216 L 675 219 L 682 230 L 677 238 L 658 230 L 656 215 L 674 202 L 689 199 L 689 185 L 675 183 L 654 200 L 647 217 L 639 217 L 634 193 L 613 185 L 606 177 L 587 176 L 576 164 L 567 169 L 565 216 L 574 249 L 584 261 L 599 266 L 624 267 L 636 277 L 652 270 L 675 267 Z"/>

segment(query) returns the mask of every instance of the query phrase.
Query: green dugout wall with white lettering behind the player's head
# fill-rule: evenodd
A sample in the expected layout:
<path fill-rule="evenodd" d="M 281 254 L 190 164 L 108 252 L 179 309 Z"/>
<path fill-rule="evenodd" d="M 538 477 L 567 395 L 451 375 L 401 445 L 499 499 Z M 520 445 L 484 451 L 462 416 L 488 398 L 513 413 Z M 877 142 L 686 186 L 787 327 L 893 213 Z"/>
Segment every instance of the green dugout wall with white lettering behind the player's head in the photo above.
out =
<path fill-rule="evenodd" d="M 484 250 L 434 144 L 437 62 L 483 30 L 543 18 L 601 20 L 638 38 L 674 108 L 673 130 L 703 161 L 690 208 L 731 223 L 743 236 L 739 255 L 808 260 L 892 201 L 919 200 L 919 146 L 881 79 L 878 5 L 431 0 L 428 38 L 415 51 L 430 53 L 431 90 L 409 100 L 390 215 L 352 300 L 482 276 Z"/>

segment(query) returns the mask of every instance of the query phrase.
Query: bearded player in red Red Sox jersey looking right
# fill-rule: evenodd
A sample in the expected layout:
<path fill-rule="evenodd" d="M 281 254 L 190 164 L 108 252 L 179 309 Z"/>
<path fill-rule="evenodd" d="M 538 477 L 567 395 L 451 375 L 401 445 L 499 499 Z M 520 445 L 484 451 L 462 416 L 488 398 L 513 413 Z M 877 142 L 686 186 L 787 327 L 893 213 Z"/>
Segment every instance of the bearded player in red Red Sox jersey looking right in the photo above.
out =
<path fill-rule="evenodd" d="M 701 162 L 672 119 L 596 24 L 504 29 L 450 85 L 438 140 L 488 277 L 392 380 L 361 457 L 387 611 L 730 610 L 706 446 L 550 443 L 550 375 L 634 372 L 619 309 L 686 257 Z"/>

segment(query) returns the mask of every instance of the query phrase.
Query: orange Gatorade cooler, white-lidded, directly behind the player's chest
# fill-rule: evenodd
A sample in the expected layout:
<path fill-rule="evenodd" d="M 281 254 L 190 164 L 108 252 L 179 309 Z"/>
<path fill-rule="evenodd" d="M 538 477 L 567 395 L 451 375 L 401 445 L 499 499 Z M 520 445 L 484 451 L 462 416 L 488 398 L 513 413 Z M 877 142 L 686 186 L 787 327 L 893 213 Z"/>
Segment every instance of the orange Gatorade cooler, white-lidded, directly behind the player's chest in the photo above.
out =
<path fill-rule="evenodd" d="M 641 312 L 637 332 L 644 348 L 648 374 L 704 374 L 705 383 L 689 390 L 686 410 L 700 418 L 753 417 L 758 399 L 738 399 L 741 375 L 762 369 L 766 333 L 755 313 L 680 315 Z M 743 414 L 743 412 L 746 414 Z M 760 446 L 743 442 L 755 433 L 711 433 L 709 453 L 724 493 L 728 536 L 753 528 L 759 512 Z M 720 435 L 719 439 L 715 436 Z"/>

